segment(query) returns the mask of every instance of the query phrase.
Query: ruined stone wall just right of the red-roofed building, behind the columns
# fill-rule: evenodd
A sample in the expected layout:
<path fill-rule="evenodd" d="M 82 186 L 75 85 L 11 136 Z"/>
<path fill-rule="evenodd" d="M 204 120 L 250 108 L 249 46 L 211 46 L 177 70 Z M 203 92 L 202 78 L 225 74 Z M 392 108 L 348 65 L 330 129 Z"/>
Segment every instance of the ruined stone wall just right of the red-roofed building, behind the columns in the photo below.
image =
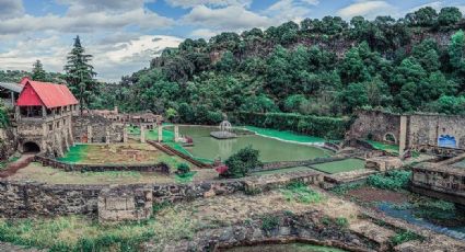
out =
<path fill-rule="evenodd" d="M 72 131 L 77 142 L 123 142 L 125 124 L 114 123 L 100 115 L 72 117 Z"/>

